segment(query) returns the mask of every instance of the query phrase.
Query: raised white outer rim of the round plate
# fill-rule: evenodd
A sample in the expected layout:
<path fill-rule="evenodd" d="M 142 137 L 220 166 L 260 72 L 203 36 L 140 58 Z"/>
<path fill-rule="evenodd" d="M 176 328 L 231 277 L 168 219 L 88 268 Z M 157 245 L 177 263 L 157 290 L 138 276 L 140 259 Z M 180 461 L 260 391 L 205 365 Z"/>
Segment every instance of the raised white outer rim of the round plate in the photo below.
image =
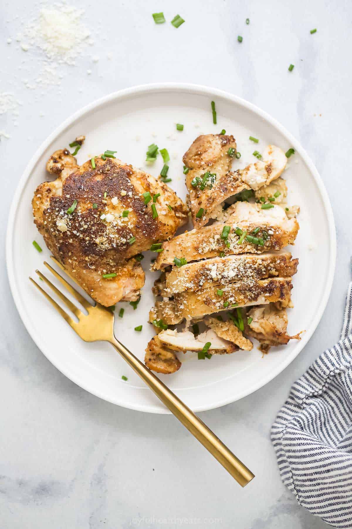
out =
<path fill-rule="evenodd" d="M 308 166 L 309 171 L 311 172 L 313 178 L 315 179 L 315 183 L 317 184 L 317 187 L 319 189 L 320 197 L 322 199 L 323 205 L 325 207 L 325 211 L 327 214 L 327 222 L 329 227 L 329 242 L 330 242 L 330 256 L 329 256 L 329 263 L 328 263 L 328 276 L 327 281 L 325 284 L 325 290 L 324 294 L 322 295 L 322 301 L 320 303 L 319 309 L 316 312 L 315 317 L 313 318 L 312 324 L 310 325 L 309 331 L 305 333 L 304 338 L 297 344 L 297 349 L 294 351 L 294 355 L 290 356 L 286 361 L 279 364 L 277 369 L 273 369 L 269 376 L 264 378 L 263 380 L 260 380 L 258 384 L 256 384 L 254 387 L 251 387 L 250 390 L 244 390 L 242 393 L 234 397 L 227 397 L 222 400 L 217 400 L 217 402 L 214 405 L 211 406 L 195 406 L 193 407 L 193 410 L 195 412 L 201 412 L 201 411 L 207 411 L 209 409 L 218 408 L 221 406 L 224 406 L 225 404 L 230 404 L 232 402 L 235 402 L 236 400 L 240 400 L 241 398 L 250 395 L 260 389 L 261 387 L 268 384 L 271 380 L 273 380 L 275 377 L 277 377 L 284 369 L 287 368 L 287 366 L 295 359 L 297 358 L 298 354 L 302 351 L 303 347 L 308 343 L 310 340 L 312 334 L 315 332 L 321 317 L 325 311 L 326 305 L 328 303 L 328 299 L 330 296 L 330 291 L 332 288 L 332 281 L 334 280 L 334 274 L 335 274 L 335 266 L 336 266 L 336 227 L 335 227 L 335 220 L 334 220 L 334 213 L 332 211 L 332 206 L 330 204 L 330 200 L 328 197 L 327 190 L 325 188 L 324 181 L 319 175 L 319 172 L 317 168 L 315 167 L 315 164 L 310 159 L 307 151 L 302 147 L 300 142 L 283 126 L 281 123 L 276 120 L 274 117 L 272 117 L 267 112 L 261 110 L 258 106 L 254 105 L 253 103 L 250 103 L 243 99 L 242 97 L 236 96 L 234 94 L 231 94 L 230 92 L 226 92 L 225 90 L 221 90 L 218 88 L 214 88 L 211 86 L 206 85 L 198 85 L 198 84 L 192 84 L 192 83 L 150 83 L 150 84 L 144 84 L 144 85 L 135 85 L 128 88 L 123 88 L 121 90 L 118 90 L 117 92 L 112 92 L 111 94 L 105 95 L 103 97 L 100 97 L 98 99 L 94 99 L 91 103 L 83 106 L 78 111 L 71 114 L 68 118 L 66 118 L 56 129 L 53 130 L 51 134 L 41 143 L 39 148 L 35 151 L 32 158 L 28 161 L 24 171 L 23 175 L 20 178 L 20 181 L 18 181 L 11 206 L 9 208 L 9 215 L 8 215 L 8 223 L 7 223 L 7 229 L 6 229 L 6 243 L 5 243 L 5 256 L 6 256 L 6 269 L 7 269 L 7 277 L 9 282 L 9 287 L 11 290 L 11 294 L 15 303 L 15 306 L 17 308 L 18 314 L 21 317 L 21 320 L 28 332 L 30 334 L 32 340 L 37 345 L 37 347 L 40 349 L 40 351 L 44 354 L 44 356 L 53 364 L 53 366 L 56 367 L 65 377 L 69 378 L 74 384 L 77 384 L 84 390 L 88 391 L 92 395 L 95 395 L 99 398 L 102 398 L 103 400 L 106 400 L 107 402 L 110 402 L 115 405 L 119 405 L 128 409 L 134 409 L 136 411 L 140 412 L 147 412 L 147 413 L 158 413 L 158 414 L 170 414 L 171 412 L 168 411 L 167 408 L 156 408 L 153 405 L 139 405 L 135 403 L 129 403 L 128 405 L 126 403 L 121 403 L 119 399 L 112 400 L 110 397 L 103 394 L 101 391 L 92 391 L 91 388 L 88 388 L 85 386 L 84 381 L 81 380 L 78 381 L 74 376 L 70 376 L 69 372 L 66 372 L 62 367 L 59 367 L 55 361 L 53 361 L 51 358 L 47 356 L 47 354 L 44 352 L 44 346 L 42 348 L 41 346 L 41 338 L 40 335 L 35 331 L 35 328 L 32 328 L 32 325 L 30 321 L 27 320 L 24 305 L 22 305 L 20 300 L 20 294 L 18 293 L 18 289 L 16 286 L 16 281 L 14 277 L 14 271 L 11 267 L 11 262 L 13 260 L 13 248 L 12 248 L 12 241 L 13 241 L 13 234 L 14 234 L 14 228 L 15 228 L 15 211 L 17 204 L 19 202 L 19 198 L 21 197 L 21 194 L 23 192 L 23 189 L 27 183 L 28 178 L 30 177 L 31 172 L 34 169 L 34 166 L 36 165 L 37 160 L 43 155 L 44 151 L 49 147 L 50 143 L 52 143 L 55 138 L 61 134 L 67 127 L 72 125 L 75 121 L 77 121 L 80 117 L 87 114 L 89 111 L 93 110 L 94 108 L 99 107 L 100 105 L 108 104 L 111 101 L 114 101 L 115 99 L 120 99 L 125 96 L 134 96 L 141 93 L 147 94 L 147 93 L 155 93 L 155 92 L 173 92 L 173 91 L 189 91 L 194 94 L 196 93 L 202 93 L 204 95 L 213 96 L 213 97 L 223 97 L 230 101 L 231 103 L 239 104 L 242 107 L 248 109 L 249 111 L 254 112 L 259 117 L 263 118 L 263 120 L 266 120 L 269 122 L 272 126 L 274 126 L 277 130 L 281 132 L 286 138 L 289 140 L 289 142 L 292 144 L 293 148 L 295 148 L 303 161 Z"/>

